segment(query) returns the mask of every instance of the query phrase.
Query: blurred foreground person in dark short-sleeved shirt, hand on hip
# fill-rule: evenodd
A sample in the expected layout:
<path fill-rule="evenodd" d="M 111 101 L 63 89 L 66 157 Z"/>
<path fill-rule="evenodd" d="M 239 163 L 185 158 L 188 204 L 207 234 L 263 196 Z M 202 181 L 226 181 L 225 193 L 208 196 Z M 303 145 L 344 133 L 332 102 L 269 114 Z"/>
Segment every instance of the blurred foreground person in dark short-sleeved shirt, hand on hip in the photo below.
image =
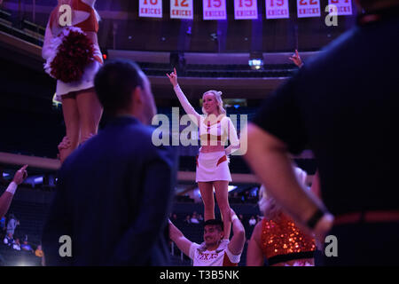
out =
<path fill-rule="evenodd" d="M 265 100 L 248 126 L 246 161 L 298 225 L 322 244 L 334 236 L 317 264 L 399 264 L 399 3 L 357 4 L 356 27 Z M 287 155 L 307 148 L 324 204 L 297 182 Z"/>

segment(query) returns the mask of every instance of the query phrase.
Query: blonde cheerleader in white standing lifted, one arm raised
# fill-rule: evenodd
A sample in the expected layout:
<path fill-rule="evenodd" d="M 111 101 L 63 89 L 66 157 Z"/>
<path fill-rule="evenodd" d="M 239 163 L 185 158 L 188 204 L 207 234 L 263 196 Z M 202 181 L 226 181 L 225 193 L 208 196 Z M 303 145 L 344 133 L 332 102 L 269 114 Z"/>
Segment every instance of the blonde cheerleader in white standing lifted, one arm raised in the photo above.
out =
<path fill-rule="evenodd" d="M 196 182 L 200 187 L 204 201 L 205 220 L 215 219 L 216 201 L 222 214 L 224 225 L 224 239 L 229 239 L 231 230 L 230 205 L 228 199 L 228 185 L 231 174 L 227 156 L 239 149 L 239 138 L 231 119 L 226 116 L 220 91 L 207 91 L 204 93 L 202 113 L 198 114 L 177 83 L 176 69 L 168 75 L 177 98 L 184 111 L 192 115 L 192 121 L 200 129 L 200 154 L 197 156 Z M 226 140 L 230 146 L 224 148 Z"/>

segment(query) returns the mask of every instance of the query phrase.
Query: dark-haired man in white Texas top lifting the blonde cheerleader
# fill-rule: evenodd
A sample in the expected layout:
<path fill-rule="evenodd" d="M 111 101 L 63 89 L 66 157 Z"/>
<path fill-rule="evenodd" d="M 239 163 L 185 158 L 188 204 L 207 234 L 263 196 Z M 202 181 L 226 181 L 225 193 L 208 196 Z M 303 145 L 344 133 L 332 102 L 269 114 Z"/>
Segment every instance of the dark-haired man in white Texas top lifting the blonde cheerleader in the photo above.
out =
<path fill-rule="evenodd" d="M 193 266 L 238 266 L 246 242 L 246 231 L 232 209 L 231 224 L 233 236 L 229 241 L 223 240 L 221 220 L 207 220 L 204 224 L 204 243 L 200 245 L 184 237 L 184 234 L 169 220 L 170 239 L 192 259 Z"/>

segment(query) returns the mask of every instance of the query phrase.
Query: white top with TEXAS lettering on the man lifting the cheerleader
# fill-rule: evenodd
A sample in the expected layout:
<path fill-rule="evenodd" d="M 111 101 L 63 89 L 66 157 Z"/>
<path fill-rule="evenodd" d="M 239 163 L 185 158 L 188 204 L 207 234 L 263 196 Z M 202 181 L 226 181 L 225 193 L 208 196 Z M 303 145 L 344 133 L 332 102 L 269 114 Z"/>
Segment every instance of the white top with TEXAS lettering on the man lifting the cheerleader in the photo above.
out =
<path fill-rule="evenodd" d="M 193 266 L 238 266 L 241 254 L 234 256 L 229 250 L 230 241 L 222 241 L 216 250 L 200 250 L 200 245 L 193 242 L 190 258 Z"/>

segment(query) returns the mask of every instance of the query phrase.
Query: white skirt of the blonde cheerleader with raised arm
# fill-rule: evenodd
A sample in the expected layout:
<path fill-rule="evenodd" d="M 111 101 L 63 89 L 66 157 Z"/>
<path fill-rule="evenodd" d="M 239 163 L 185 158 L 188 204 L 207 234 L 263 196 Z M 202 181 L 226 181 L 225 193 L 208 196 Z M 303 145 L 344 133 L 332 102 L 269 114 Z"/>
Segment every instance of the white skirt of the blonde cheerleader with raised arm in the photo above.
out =
<path fill-rule="evenodd" d="M 197 156 L 196 182 L 231 181 L 229 159 L 224 151 L 201 153 Z"/>

